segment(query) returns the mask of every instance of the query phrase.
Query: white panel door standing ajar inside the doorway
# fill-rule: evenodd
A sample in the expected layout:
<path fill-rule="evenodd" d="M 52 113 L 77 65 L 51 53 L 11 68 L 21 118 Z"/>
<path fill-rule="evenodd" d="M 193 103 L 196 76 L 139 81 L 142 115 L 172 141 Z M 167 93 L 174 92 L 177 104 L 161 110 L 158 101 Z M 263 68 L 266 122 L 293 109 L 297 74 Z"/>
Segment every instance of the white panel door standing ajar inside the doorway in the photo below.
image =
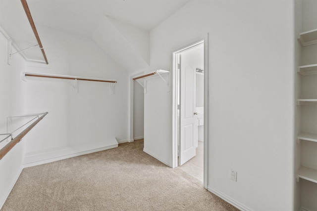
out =
<path fill-rule="evenodd" d="M 183 61 L 180 71 L 180 165 L 196 156 L 197 141 L 197 118 L 194 114 L 196 112 L 196 70 Z"/>

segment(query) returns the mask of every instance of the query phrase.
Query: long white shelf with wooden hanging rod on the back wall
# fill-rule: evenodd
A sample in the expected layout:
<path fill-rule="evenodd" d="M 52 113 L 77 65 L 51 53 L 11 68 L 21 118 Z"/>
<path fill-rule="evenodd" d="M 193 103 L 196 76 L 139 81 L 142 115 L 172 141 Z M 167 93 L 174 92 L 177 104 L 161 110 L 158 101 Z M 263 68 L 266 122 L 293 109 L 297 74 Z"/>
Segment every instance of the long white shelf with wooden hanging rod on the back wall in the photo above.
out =
<path fill-rule="evenodd" d="M 96 79 L 96 78 L 86 78 L 78 76 L 64 76 L 64 75 L 53 75 L 53 74 L 39 74 L 39 73 L 23 73 L 23 76 L 27 77 L 40 77 L 40 78 L 52 78 L 52 79 L 67 79 L 74 80 L 73 88 L 75 92 L 78 92 L 78 81 L 91 81 L 91 82 L 105 82 L 110 83 L 110 94 L 113 94 L 114 84 L 117 83 L 116 80 L 109 79 Z"/>

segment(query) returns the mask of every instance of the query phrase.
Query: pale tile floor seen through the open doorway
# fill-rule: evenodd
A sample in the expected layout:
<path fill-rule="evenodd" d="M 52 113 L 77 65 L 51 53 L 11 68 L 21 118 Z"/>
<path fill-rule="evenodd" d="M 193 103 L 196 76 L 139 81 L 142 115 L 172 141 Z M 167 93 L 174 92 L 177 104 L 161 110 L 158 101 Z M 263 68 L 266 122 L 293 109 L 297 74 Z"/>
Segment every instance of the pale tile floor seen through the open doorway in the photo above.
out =
<path fill-rule="evenodd" d="M 196 156 L 179 168 L 204 182 L 204 142 L 198 141 Z"/>

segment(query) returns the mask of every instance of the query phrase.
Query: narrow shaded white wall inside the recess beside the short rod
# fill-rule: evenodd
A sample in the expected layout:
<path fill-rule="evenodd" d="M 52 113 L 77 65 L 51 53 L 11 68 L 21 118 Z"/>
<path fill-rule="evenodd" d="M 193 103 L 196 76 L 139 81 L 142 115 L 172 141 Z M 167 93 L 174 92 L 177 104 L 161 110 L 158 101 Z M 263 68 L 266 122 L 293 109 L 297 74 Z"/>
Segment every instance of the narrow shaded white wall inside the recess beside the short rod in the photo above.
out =
<path fill-rule="evenodd" d="M 144 137 L 144 88 L 133 82 L 133 138 Z"/>

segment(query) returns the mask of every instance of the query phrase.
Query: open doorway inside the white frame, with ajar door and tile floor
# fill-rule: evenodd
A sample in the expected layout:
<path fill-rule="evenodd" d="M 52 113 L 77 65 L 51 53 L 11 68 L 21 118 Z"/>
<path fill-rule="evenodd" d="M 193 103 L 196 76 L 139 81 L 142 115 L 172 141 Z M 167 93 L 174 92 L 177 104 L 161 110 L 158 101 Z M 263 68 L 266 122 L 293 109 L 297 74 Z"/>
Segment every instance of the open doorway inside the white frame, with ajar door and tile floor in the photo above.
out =
<path fill-rule="evenodd" d="M 204 60 L 204 41 L 173 53 L 174 165 L 201 181 L 205 178 Z"/>

